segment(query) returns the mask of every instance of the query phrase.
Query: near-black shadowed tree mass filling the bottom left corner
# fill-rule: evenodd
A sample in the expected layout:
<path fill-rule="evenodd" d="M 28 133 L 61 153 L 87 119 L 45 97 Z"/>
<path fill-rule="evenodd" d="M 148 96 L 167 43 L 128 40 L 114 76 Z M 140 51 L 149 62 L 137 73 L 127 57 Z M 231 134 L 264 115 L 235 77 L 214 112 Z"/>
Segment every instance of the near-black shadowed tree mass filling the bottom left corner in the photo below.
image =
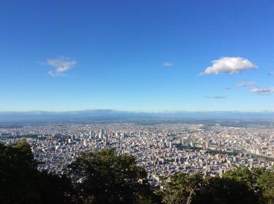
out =
<path fill-rule="evenodd" d="M 69 203 L 71 182 L 41 173 L 25 139 L 0 143 L 0 203 Z"/>

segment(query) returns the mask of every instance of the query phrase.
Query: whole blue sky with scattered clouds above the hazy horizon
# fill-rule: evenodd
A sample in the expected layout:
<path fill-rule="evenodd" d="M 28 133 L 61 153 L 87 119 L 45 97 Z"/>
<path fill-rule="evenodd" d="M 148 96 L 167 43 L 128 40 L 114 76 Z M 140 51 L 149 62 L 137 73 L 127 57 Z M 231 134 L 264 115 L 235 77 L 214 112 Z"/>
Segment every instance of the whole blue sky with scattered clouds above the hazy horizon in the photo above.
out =
<path fill-rule="evenodd" d="M 0 111 L 274 110 L 273 1 L 0 8 Z"/>

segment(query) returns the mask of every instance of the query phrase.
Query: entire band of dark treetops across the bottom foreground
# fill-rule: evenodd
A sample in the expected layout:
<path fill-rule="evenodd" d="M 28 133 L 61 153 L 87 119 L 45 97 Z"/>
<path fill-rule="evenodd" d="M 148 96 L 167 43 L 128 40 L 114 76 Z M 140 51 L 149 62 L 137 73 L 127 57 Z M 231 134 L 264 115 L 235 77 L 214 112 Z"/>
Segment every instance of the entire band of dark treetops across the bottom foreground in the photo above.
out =
<path fill-rule="evenodd" d="M 26 140 L 0 143 L 0 203 L 274 203 L 274 172 L 265 168 L 176 173 L 155 190 L 135 157 L 115 149 L 79 153 L 62 177 L 37 166 Z"/>

